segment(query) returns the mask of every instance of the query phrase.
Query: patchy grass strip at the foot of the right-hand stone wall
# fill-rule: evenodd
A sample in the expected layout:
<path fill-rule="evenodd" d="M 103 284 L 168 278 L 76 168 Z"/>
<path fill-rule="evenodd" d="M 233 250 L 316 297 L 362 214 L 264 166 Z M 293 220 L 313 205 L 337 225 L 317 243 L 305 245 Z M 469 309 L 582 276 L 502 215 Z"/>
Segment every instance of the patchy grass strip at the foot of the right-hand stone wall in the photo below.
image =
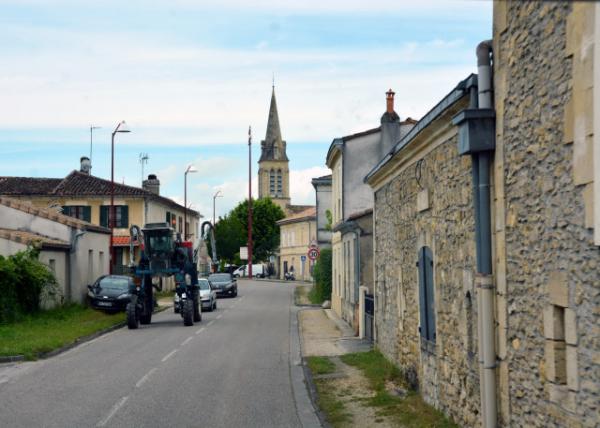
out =
<path fill-rule="evenodd" d="M 360 369 L 369 380 L 375 396 L 365 400 L 365 404 L 376 407 L 378 416 L 389 416 L 402 426 L 411 428 L 457 427 L 442 412 L 425 403 L 416 391 L 409 390 L 402 372 L 379 351 L 346 354 L 340 358 L 345 364 Z M 390 394 L 385 387 L 387 382 L 401 385 L 407 391 L 406 395 Z"/>

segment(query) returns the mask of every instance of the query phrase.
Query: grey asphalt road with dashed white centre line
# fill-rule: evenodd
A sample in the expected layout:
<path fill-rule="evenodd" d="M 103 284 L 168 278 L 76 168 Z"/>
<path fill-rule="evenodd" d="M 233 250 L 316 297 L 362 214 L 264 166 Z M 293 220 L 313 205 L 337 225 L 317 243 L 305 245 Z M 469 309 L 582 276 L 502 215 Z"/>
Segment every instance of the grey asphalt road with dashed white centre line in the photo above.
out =
<path fill-rule="evenodd" d="M 48 360 L 0 366 L 1 427 L 302 427 L 317 423 L 293 287 L 240 281 L 202 322 L 167 310 Z"/>

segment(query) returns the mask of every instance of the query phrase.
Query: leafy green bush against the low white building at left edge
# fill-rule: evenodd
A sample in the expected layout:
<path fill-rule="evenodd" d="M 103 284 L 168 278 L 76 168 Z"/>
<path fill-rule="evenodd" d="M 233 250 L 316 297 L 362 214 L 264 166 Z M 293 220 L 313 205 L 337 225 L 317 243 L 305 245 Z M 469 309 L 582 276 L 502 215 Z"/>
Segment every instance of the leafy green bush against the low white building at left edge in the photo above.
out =
<path fill-rule="evenodd" d="M 0 323 L 14 322 L 23 314 L 37 312 L 42 290 L 57 286 L 54 274 L 38 256 L 36 248 L 0 256 Z"/>

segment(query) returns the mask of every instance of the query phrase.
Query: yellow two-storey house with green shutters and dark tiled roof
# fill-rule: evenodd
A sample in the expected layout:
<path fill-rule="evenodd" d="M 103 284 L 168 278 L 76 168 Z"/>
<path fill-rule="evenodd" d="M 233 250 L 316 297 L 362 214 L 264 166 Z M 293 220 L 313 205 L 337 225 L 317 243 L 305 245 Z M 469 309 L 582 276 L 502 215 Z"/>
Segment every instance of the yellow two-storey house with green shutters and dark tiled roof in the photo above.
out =
<path fill-rule="evenodd" d="M 0 196 L 31 203 L 34 207 L 53 209 L 66 216 L 109 227 L 111 198 L 110 180 L 89 173 L 89 160 L 82 158 L 81 169 L 65 178 L 0 177 Z M 113 272 L 121 272 L 129 263 L 129 227 L 146 223 L 167 222 L 187 239 L 199 240 L 199 212 L 188 209 L 160 195 L 160 181 L 151 174 L 142 187 L 114 183 L 115 228 L 113 242 L 115 263 Z M 1 225 L 0 225 L 1 227 Z M 134 258 L 139 250 L 134 250 Z"/>

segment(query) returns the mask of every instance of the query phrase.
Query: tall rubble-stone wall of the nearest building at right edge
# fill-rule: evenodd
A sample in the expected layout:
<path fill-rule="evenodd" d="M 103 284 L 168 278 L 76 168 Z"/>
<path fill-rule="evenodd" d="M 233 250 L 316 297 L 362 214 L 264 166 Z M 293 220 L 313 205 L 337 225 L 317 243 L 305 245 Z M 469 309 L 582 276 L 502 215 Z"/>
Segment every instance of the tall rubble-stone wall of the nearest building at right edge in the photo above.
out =
<path fill-rule="evenodd" d="M 600 425 L 600 251 L 590 221 L 591 86 L 600 72 L 592 71 L 594 7 L 495 5 L 505 425 Z"/>

